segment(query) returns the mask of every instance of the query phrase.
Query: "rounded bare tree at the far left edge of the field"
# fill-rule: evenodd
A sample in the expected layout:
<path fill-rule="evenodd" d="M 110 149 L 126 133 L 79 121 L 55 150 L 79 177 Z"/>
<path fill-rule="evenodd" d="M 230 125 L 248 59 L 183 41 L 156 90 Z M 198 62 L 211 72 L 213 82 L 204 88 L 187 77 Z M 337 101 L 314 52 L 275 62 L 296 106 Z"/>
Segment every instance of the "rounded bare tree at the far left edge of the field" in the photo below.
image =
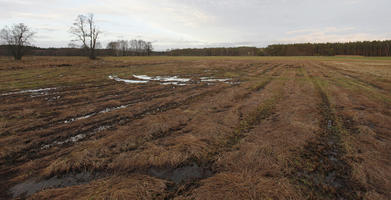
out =
<path fill-rule="evenodd" d="M 29 27 L 20 23 L 4 27 L 0 32 L 0 38 L 8 46 L 15 60 L 21 60 L 26 53 L 26 47 L 31 45 L 34 34 Z"/>

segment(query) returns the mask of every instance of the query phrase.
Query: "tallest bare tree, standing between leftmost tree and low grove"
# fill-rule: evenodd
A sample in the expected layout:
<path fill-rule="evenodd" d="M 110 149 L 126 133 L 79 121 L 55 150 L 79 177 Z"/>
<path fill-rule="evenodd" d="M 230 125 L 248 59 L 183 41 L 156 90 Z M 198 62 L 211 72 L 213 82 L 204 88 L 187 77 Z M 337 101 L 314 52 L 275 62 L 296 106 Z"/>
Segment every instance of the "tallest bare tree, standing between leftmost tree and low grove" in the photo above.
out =
<path fill-rule="evenodd" d="M 93 14 L 79 15 L 73 23 L 70 33 L 75 36 L 74 41 L 82 43 L 82 47 L 88 51 L 90 59 L 96 59 L 95 50 L 101 31 L 96 26 Z"/>

